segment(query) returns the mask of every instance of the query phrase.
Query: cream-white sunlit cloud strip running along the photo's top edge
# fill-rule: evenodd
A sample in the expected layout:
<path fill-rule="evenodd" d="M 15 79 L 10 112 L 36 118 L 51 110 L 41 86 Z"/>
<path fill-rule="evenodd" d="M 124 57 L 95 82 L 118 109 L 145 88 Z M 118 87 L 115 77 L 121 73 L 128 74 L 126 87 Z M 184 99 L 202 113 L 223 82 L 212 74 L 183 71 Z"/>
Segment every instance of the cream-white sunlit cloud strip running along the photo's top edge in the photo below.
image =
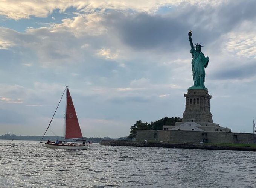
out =
<path fill-rule="evenodd" d="M 0 14 L 10 19 L 28 19 L 31 16 L 45 18 L 55 9 L 65 12 L 67 8 L 74 7 L 80 12 L 93 12 L 95 9 L 105 11 L 113 10 L 135 10 L 138 12 L 154 13 L 161 6 L 177 6 L 177 5 L 198 5 L 201 8 L 205 6 L 219 6 L 227 0 L 210 1 L 210 0 L 1 0 Z"/>

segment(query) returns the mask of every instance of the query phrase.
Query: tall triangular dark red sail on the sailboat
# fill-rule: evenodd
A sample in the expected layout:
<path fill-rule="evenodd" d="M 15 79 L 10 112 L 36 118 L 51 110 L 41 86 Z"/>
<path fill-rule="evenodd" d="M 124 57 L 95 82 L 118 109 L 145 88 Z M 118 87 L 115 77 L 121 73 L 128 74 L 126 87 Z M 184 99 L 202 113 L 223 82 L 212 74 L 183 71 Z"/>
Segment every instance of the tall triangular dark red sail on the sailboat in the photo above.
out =
<path fill-rule="evenodd" d="M 76 111 L 72 98 L 67 89 L 67 107 L 66 107 L 66 134 L 65 139 L 82 138 L 81 129 L 76 116 Z"/>

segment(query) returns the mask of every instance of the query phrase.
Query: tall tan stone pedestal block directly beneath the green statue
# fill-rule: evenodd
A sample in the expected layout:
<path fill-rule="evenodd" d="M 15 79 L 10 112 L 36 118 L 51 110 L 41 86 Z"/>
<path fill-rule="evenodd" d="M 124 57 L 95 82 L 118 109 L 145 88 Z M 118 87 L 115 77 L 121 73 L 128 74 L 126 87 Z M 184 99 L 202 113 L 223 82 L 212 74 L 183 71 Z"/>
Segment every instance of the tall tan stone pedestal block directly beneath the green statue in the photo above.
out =
<path fill-rule="evenodd" d="M 213 123 L 210 112 L 211 95 L 204 89 L 189 89 L 186 97 L 186 109 L 183 113 L 182 122 L 207 122 Z M 199 123 L 200 124 L 200 123 Z"/>

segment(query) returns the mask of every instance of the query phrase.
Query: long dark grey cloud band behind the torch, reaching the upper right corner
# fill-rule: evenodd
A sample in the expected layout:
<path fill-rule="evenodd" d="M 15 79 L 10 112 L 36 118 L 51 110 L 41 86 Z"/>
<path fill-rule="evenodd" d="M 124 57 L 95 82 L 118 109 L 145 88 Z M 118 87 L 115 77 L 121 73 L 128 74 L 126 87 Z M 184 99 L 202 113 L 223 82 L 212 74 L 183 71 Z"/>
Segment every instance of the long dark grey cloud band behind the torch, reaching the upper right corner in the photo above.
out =
<path fill-rule="evenodd" d="M 122 14 L 112 12 L 106 17 L 106 27 L 136 50 L 170 50 L 187 45 L 187 33 L 193 30 L 193 42 L 204 45 L 216 41 L 246 20 L 254 20 L 256 2 L 239 1 L 218 7 L 185 6 L 166 15 L 147 13 Z M 176 47 L 176 48 L 175 48 Z"/>

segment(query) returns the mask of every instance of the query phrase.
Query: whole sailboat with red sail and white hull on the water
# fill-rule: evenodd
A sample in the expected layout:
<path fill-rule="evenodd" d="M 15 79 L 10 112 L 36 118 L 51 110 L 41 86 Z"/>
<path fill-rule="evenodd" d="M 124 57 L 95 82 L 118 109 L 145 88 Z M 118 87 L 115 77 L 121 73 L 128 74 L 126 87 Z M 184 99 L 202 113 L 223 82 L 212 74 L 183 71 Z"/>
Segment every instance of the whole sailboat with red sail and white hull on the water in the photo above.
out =
<path fill-rule="evenodd" d="M 46 132 L 43 135 L 43 138 L 41 139 L 40 143 L 44 143 L 47 148 L 56 148 L 56 149 L 88 149 L 88 143 L 85 143 L 85 139 L 82 136 L 82 132 L 78 123 L 78 118 L 76 116 L 75 107 L 69 92 L 68 87 L 66 86 L 66 89 L 64 90 L 62 97 L 66 91 L 66 113 L 65 113 L 65 126 L 64 126 L 64 141 L 47 141 L 42 142 L 44 135 L 46 134 L 47 130 L 50 127 L 50 124 L 53 120 L 53 117 L 59 107 L 59 104 L 53 114 L 53 117 L 49 123 L 49 126 L 46 129 Z M 61 99 L 62 99 L 61 97 Z M 61 100 L 59 101 L 59 103 Z M 82 143 L 77 142 L 71 142 L 68 140 L 76 140 L 76 141 L 83 141 Z"/>

